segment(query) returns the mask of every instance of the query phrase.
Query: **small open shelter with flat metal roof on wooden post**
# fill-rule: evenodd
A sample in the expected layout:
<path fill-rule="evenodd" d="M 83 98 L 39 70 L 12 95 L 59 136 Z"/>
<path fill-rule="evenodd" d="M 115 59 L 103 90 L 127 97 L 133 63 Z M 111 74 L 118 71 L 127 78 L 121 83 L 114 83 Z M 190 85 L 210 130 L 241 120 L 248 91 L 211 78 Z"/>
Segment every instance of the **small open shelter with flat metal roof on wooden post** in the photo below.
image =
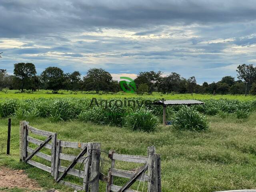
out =
<path fill-rule="evenodd" d="M 155 105 L 163 106 L 163 125 L 166 125 L 166 106 L 168 105 L 201 105 L 204 104 L 202 101 L 198 100 L 159 100 L 154 102 Z"/>

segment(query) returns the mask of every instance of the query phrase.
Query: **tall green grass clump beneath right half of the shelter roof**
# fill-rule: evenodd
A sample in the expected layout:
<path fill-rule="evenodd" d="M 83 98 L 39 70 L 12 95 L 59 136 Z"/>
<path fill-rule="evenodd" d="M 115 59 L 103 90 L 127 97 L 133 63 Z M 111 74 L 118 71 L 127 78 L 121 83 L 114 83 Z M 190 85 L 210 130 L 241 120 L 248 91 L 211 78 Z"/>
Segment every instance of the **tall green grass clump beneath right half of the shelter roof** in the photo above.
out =
<path fill-rule="evenodd" d="M 179 130 L 207 130 L 209 124 L 206 116 L 193 107 L 183 106 L 173 118 L 173 127 Z"/>

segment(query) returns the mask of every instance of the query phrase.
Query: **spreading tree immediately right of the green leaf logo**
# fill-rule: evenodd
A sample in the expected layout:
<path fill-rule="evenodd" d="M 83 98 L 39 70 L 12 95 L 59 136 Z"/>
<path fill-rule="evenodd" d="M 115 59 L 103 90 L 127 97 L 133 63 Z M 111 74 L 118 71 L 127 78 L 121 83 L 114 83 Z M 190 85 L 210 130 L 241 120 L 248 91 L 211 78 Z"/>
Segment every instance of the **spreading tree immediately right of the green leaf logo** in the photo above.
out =
<path fill-rule="evenodd" d="M 158 83 L 161 79 L 161 75 L 161 71 L 140 72 L 137 75 L 136 79 L 134 79 L 134 82 L 136 83 L 137 86 L 146 83 L 148 85 L 148 92 L 153 92 L 154 86 L 158 86 Z"/>

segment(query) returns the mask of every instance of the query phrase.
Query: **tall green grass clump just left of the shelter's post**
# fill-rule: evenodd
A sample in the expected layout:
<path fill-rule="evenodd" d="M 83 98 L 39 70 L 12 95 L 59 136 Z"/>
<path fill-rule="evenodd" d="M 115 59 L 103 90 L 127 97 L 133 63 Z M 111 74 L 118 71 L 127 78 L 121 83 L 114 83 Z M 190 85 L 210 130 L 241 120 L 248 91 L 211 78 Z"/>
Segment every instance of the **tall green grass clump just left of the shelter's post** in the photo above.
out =
<path fill-rule="evenodd" d="M 151 110 L 138 109 L 132 112 L 126 118 L 126 126 L 132 130 L 140 130 L 145 132 L 156 131 L 159 125 L 159 119 L 154 116 Z"/>

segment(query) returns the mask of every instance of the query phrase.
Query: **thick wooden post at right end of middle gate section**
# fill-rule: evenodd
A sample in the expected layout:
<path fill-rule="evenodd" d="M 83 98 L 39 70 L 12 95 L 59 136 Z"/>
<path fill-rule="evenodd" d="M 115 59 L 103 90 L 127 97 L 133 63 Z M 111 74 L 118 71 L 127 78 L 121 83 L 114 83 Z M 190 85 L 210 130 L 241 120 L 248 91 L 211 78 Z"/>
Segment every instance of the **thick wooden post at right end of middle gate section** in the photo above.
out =
<path fill-rule="evenodd" d="M 92 143 L 92 171 L 90 175 L 91 192 L 99 192 L 100 143 Z"/>

